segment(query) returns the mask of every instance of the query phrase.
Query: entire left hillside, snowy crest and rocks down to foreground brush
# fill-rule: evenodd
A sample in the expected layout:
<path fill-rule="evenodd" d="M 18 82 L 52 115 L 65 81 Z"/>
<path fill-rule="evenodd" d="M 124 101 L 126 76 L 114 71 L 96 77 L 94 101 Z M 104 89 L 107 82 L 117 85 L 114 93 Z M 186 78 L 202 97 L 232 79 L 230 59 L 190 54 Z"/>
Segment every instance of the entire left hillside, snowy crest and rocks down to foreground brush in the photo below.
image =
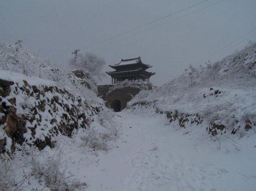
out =
<path fill-rule="evenodd" d="M 0 190 L 84 190 L 65 156 L 111 148 L 117 124 L 103 103 L 85 72 L 0 44 Z"/>

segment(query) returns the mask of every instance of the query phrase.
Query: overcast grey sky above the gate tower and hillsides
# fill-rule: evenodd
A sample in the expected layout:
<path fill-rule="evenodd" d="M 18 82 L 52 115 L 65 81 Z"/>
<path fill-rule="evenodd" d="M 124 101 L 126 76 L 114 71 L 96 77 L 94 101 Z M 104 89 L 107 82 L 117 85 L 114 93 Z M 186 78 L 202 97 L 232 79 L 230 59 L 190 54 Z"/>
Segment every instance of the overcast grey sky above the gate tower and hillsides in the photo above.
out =
<path fill-rule="evenodd" d="M 0 42 L 22 39 L 28 51 L 61 64 L 76 48 L 107 65 L 140 56 L 153 65 L 153 84 L 162 85 L 189 64 L 216 61 L 256 41 L 256 0 L 209 0 L 106 39 L 203 1 L 0 0 Z M 110 82 L 108 76 L 102 84 Z"/>

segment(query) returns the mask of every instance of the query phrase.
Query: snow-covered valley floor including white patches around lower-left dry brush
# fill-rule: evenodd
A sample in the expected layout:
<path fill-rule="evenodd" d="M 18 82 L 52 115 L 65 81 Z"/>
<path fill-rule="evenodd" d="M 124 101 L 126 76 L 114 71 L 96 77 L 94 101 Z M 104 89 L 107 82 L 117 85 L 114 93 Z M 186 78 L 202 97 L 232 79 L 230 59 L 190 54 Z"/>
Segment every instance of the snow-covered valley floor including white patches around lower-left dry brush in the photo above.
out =
<path fill-rule="evenodd" d="M 117 127 L 120 138 L 110 141 L 106 150 L 85 146 L 81 137 L 86 134 L 81 129 L 72 138 L 59 136 L 55 148 L 34 151 L 34 158 L 47 166 L 60 152 L 66 177 L 86 182 L 87 191 L 255 191 L 253 129 L 242 138 L 236 134 L 213 139 L 205 127 L 180 128 L 178 122 L 170 123 L 154 109 L 116 114 L 108 116 L 105 125 Z M 101 122 L 96 118 L 91 128 Z M 23 156 L 14 167 L 16 178 L 23 170 L 29 174 L 33 159 Z M 21 188 L 48 190 L 45 180 L 39 180 L 33 175 Z"/>

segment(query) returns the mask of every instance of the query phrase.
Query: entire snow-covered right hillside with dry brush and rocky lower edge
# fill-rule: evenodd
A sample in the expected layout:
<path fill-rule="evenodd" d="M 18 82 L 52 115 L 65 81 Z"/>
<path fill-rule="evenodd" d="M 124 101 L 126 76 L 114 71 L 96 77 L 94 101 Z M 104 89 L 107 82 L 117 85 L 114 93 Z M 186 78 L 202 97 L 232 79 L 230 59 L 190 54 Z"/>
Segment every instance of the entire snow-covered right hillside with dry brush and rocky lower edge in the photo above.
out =
<path fill-rule="evenodd" d="M 180 127 L 207 127 L 213 136 L 242 136 L 256 129 L 256 43 L 214 64 L 189 68 L 153 91 L 141 91 L 130 102 L 165 113 Z"/>

